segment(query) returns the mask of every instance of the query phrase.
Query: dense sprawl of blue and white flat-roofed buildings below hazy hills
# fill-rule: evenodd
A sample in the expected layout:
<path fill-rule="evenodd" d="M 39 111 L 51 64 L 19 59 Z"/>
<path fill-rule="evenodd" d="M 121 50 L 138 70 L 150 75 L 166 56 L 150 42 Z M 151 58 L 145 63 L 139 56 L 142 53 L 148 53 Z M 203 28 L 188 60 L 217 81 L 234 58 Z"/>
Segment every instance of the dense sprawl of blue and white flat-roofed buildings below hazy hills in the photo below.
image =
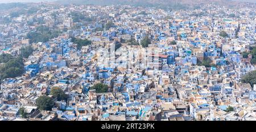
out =
<path fill-rule="evenodd" d="M 256 3 L 0 4 L 0 121 L 256 121 Z"/>

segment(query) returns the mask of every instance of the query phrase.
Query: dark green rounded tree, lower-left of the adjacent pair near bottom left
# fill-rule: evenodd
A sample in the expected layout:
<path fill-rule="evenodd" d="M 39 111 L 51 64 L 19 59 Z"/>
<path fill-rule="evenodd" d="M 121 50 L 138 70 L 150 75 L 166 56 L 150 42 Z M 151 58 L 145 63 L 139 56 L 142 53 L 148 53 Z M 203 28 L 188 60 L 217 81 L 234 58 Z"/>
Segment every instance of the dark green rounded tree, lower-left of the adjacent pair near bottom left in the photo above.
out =
<path fill-rule="evenodd" d="M 51 110 L 54 105 L 53 100 L 51 97 L 48 96 L 40 96 L 36 99 L 36 106 L 40 110 Z"/>

